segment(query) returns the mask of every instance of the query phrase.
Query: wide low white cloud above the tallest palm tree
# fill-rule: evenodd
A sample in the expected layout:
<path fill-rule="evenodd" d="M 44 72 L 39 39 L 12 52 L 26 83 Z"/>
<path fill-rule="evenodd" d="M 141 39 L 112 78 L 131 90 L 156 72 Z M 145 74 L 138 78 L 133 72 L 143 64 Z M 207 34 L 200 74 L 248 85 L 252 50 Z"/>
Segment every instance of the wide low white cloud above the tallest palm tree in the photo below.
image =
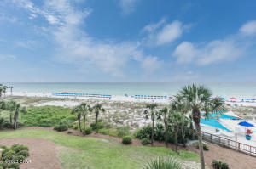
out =
<path fill-rule="evenodd" d="M 211 65 L 222 61 L 232 61 L 245 54 L 245 46 L 240 46 L 234 39 L 215 40 L 195 45 L 182 42 L 173 52 L 178 64 Z"/>

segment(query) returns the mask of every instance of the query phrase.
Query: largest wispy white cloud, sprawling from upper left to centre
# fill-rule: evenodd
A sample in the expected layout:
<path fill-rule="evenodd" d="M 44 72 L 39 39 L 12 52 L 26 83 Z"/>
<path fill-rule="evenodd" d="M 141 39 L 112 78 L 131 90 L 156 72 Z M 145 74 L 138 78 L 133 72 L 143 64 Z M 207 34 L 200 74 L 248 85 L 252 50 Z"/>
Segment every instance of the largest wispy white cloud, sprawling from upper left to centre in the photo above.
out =
<path fill-rule="evenodd" d="M 59 62 L 77 65 L 79 70 L 87 72 L 96 70 L 112 76 L 125 76 L 123 70 L 130 59 L 143 60 L 138 42 L 99 40 L 80 29 L 91 13 L 90 8 L 78 10 L 68 0 L 46 0 L 44 8 L 35 7 L 28 0 L 22 2 L 23 8 L 44 16 L 49 22 L 47 29 L 57 43 L 55 60 Z"/>

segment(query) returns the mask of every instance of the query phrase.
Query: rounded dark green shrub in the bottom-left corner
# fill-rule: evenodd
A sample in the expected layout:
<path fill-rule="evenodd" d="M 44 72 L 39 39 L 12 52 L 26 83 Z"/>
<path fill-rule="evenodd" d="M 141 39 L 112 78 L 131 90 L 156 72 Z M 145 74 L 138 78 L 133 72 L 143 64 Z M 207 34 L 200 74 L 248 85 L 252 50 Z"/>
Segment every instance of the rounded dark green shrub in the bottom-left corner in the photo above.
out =
<path fill-rule="evenodd" d="M 18 169 L 21 162 L 24 162 L 28 153 L 28 147 L 25 145 L 14 144 L 10 148 L 6 146 L 0 146 L 3 149 L 2 160 L 0 162 L 0 168 L 15 168 Z M 8 163 L 8 161 L 15 161 L 15 163 Z"/>

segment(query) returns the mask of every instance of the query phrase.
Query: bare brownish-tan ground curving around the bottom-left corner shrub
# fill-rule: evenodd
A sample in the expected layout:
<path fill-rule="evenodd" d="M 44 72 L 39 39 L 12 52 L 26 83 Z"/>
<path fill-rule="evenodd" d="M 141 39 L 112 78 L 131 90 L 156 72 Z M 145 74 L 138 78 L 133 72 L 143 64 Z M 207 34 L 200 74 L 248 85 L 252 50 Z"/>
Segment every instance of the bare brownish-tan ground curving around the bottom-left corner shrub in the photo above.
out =
<path fill-rule="evenodd" d="M 55 144 L 41 138 L 1 138 L 0 144 L 10 147 L 13 144 L 24 144 L 29 147 L 26 159 L 29 164 L 20 165 L 20 169 L 61 169 L 55 152 Z"/>

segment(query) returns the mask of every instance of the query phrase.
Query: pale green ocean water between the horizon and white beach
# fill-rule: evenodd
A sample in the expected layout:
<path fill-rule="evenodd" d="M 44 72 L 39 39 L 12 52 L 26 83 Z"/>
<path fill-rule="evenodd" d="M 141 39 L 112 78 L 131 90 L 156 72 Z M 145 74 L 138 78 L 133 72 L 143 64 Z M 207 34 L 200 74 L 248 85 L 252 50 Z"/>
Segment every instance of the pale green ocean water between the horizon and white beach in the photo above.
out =
<path fill-rule="evenodd" d="M 189 82 L 38 82 L 3 83 L 13 86 L 14 92 L 77 92 L 111 95 L 174 95 Z M 198 82 L 218 97 L 255 98 L 256 82 Z"/>

